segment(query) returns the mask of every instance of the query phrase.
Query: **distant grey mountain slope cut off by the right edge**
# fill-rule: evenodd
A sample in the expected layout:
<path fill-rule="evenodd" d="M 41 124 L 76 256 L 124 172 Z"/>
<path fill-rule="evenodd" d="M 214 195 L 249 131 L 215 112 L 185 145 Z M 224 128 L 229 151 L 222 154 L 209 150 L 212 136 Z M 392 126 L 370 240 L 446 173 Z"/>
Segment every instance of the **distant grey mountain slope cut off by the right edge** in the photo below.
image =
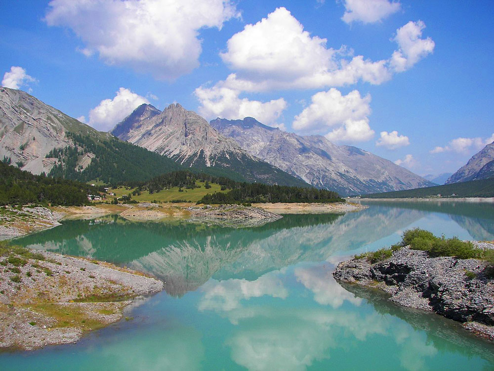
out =
<path fill-rule="evenodd" d="M 474 154 L 466 165 L 454 173 L 446 184 L 487 179 L 494 176 L 494 141 Z"/>

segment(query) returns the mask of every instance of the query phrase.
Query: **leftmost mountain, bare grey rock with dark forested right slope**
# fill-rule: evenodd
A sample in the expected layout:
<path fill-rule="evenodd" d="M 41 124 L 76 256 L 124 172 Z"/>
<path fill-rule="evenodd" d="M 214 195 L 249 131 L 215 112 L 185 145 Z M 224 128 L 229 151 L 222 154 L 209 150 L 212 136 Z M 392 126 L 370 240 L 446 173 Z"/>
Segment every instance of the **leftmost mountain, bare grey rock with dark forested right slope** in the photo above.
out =
<path fill-rule="evenodd" d="M 136 182 L 183 169 L 170 159 L 98 132 L 34 96 L 0 88 L 0 160 L 33 174 L 82 182 Z"/>

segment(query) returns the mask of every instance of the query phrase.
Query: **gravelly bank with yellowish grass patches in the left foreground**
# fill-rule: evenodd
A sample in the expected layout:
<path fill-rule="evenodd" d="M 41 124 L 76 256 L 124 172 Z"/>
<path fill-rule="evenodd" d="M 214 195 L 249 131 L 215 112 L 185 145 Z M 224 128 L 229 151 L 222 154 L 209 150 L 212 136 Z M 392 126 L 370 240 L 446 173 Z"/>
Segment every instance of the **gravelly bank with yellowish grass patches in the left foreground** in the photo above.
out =
<path fill-rule="evenodd" d="M 112 264 L 51 252 L 2 248 L 0 349 L 77 342 L 122 319 L 124 308 L 163 282 Z"/>

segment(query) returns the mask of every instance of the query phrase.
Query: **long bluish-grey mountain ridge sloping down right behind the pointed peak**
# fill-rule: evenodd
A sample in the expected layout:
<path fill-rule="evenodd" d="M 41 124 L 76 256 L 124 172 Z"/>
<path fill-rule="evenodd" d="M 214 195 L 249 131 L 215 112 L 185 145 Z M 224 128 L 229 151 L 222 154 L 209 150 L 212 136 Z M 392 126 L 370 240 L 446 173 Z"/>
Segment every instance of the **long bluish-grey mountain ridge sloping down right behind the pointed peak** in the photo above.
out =
<path fill-rule="evenodd" d="M 335 145 L 319 135 L 298 136 L 244 120 L 217 118 L 211 126 L 254 156 L 318 188 L 341 195 L 385 192 L 433 183 L 360 148 Z"/>

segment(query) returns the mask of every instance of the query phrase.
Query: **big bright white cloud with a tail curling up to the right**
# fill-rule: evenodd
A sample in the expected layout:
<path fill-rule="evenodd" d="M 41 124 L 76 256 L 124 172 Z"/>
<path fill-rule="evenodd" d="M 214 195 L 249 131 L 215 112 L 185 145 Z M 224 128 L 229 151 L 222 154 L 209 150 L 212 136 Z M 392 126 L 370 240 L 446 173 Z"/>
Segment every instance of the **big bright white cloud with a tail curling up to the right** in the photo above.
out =
<path fill-rule="evenodd" d="M 418 35 L 413 33 L 413 25 Z M 354 56 L 346 46 L 328 47 L 327 39 L 311 36 L 286 8 L 280 7 L 228 40 L 220 56 L 235 72 L 215 87 L 264 92 L 337 87 L 359 81 L 382 84 L 427 54 L 420 46 L 433 46 L 432 40 L 419 37 L 424 27 L 419 21 L 398 29 L 394 41 L 399 49 L 393 57 L 372 61 Z"/>

